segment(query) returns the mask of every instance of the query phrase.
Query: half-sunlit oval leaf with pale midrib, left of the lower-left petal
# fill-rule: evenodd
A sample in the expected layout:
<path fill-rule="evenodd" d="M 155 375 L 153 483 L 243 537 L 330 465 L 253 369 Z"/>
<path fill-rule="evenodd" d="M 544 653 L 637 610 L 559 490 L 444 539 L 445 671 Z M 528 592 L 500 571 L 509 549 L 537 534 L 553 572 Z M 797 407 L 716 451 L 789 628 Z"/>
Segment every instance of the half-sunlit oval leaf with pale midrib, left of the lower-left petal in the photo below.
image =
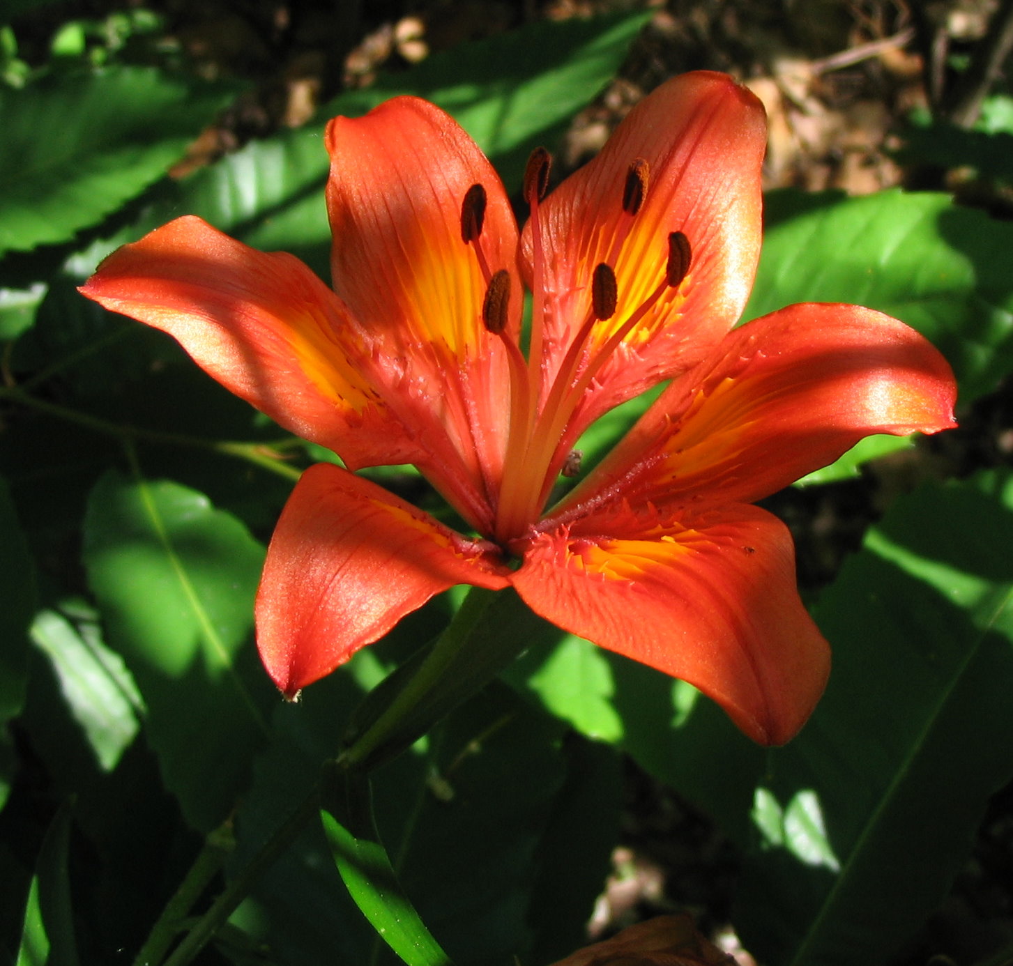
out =
<path fill-rule="evenodd" d="M 148 709 L 145 730 L 187 820 L 210 830 L 248 783 L 272 700 L 251 640 L 263 550 L 207 497 L 104 476 L 84 524 L 84 562 L 107 643 Z"/>

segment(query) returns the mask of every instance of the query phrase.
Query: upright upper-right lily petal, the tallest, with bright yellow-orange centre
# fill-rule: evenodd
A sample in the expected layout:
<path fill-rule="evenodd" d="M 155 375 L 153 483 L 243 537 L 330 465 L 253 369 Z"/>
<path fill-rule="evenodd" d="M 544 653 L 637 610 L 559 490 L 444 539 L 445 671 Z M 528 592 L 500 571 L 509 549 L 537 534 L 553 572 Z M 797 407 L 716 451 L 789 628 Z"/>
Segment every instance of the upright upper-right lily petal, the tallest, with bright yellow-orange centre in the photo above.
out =
<path fill-rule="evenodd" d="M 598 263 L 614 268 L 618 303 L 593 331 L 591 356 L 664 283 L 669 234 L 684 233 L 691 250 L 682 284 L 665 292 L 598 374 L 582 425 L 699 361 L 738 320 L 760 256 L 766 142 L 763 106 L 747 88 L 723 74 L 685 74 L 641 100 L 601 153 L 546 198 L 544 286 L 558 306 L 546 323 L 550 376 L 591 306 Z M 638 159 L 647 185 L 630 216 L 624 186 Z M 531 276 L 530 225 L 523 241 Z"/>

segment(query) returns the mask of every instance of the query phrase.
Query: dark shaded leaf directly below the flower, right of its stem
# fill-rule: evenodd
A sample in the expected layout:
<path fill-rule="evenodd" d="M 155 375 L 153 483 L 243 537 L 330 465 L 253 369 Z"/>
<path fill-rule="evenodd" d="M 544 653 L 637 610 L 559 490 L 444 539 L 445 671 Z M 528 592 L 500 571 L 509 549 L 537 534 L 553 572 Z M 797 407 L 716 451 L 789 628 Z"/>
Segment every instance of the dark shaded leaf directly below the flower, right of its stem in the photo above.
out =
<path fill-rule="evenodd" d="M 494 681 L 430 735 L 423 757 L 402 755 L 399 774 L 393 766 L 377 774 L 377 822 L 400 881 L 461 966 L 530 961 L 531 883 L 563 807 L 563 732 Z M 608 862 L 599 840 L 587 847 Z M 592 908 L 589 896 L 580 921 Z M 558 911 L 561 932 L 572 930 L 572 907 L 561 902 Z"/>

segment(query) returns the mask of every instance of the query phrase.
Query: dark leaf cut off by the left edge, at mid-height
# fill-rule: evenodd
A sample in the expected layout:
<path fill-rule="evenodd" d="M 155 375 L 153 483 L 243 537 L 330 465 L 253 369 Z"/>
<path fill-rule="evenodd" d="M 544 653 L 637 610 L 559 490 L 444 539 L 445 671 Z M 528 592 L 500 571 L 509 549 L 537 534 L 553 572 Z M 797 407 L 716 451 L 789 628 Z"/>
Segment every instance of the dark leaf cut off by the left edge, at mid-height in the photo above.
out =
<path fill-rule="evenodd" d="M 0 728 L 21 710 L 34 611 L 33 566 L 14 503 L 0 479 Z M 0 795 L 0 806 L 6 796 Z"/>

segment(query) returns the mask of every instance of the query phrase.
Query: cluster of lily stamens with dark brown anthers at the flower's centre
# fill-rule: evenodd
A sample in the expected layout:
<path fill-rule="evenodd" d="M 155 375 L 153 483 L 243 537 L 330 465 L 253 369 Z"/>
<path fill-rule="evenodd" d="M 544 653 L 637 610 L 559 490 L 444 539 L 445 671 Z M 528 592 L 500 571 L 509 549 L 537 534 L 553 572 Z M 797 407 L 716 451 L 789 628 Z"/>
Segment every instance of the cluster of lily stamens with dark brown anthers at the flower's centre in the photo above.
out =
<path fill-rule="evenodd" d="M 560 473 L 573 474 L 573 433 L 567 432 L 570 420 L 602 367 L 623 340 L 656 305 L 670 288 L 678 288 L 686 277 L 692 252 L 687 237 L 680 231 L 668 236 L 668 261 L 665 277 L 647 298 L 625 317 L 612 323 L 607 333 L 592 333 L 601 322 L 612 320 L 619 305 L 618 284 L 612 267 L 622 250 L 647 194 L 647 162 L 637 158 L 630 166 L 622 190 L 622 216 L 609 251 L 609 260 L 599 262 L 589 278 L 591 306 L 563 355 L 547 391 L 542 381 L 547 371 L 545 320 L 550 310 L 545 290 L 545 249 L 540 204 L 548 188 L 550 158 L 538 148 L 528 161 L 524 177 L 524 196 L 531 211 L 529 226 L 532 248 L 532 319 L 528 357 L 525 358 L 513 333 L 508 331 L 511 277 L 506 269 L 492 272 L 481 244 L 486 193 L 480 184 L 472 185 L 461 207 L 461 238 L 471 245 L 485 279 L 486 293 L 482 322 L 488 332 L 499 337 L 506 351 L 511 381 L 511 413 L 508 428 L 503 475 L 495 498 L 495 522 L 492 539 L 505 547 L 522 537 L 534 524 Z M 611 263 L 610 263 L 611 262 Z M 541 400 L 541 402 L 540 402 Z"/>

